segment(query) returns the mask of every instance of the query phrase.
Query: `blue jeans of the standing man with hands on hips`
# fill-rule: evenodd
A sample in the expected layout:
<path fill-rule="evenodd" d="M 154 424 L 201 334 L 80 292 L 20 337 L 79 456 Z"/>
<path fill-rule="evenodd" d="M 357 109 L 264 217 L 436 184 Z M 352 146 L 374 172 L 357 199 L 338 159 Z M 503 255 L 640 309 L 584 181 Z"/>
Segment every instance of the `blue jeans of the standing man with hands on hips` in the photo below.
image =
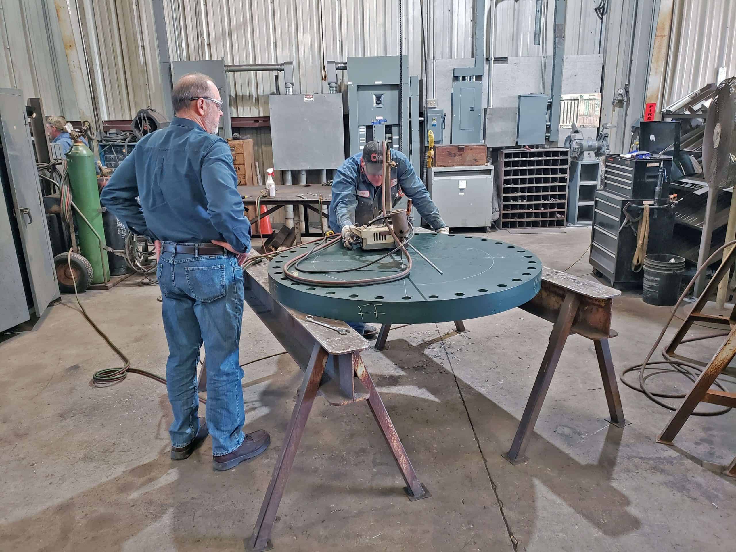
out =
<path fill-rule="evenodd" d="M 163 242 L 171 243 L 171 242 Z M 194 244 L 185 244 L 194 245 Z M 236 256 L 163 252 L 158 263 L 163 329 L 169 342 L 166 389 L 174 411 L 171 445 L 185 447 L 199 430 L 197 359 L 205 344 L 207 428 L 212 453 L 222 456 L 243 443 L 243 271 Z"/>

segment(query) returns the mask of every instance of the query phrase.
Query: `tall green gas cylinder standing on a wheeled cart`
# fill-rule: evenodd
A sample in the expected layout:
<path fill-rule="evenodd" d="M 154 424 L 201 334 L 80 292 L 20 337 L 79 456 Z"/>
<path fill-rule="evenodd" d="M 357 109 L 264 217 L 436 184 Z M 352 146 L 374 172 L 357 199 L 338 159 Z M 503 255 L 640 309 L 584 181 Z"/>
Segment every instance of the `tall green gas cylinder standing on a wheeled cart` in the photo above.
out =
<path fill-rule="evenodd" d="M 82 141 L 76 141 L 66 154 L 66 160 L 71 197 L 94 229 L 90 228 L 78 213 L 75 213 L 79 229 L 79 249 L 92 265 L 94 272 L 92 283 L 105 283 L 110 278 L 110 267 L 107 265 L 107 251 L 103 251 L 100 255 L 97 239 L 97 236 L 102 238 L 102 246 L 107 247 L 105 227 L 102 224 L 102 209 L 99 204 L 94 155 Z"/>

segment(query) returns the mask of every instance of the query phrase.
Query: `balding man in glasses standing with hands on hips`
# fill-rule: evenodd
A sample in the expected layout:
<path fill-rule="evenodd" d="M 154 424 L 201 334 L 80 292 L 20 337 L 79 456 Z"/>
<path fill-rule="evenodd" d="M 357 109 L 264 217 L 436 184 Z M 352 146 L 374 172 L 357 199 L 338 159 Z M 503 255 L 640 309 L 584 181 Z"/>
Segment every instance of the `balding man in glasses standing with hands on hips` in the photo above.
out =
<path fill-rule="evenodd" d="M 209 433 L 213 468 L 230 470 L 270 443 L 266 431 L 241 429 L 241 266 L 250 250 L 250 224 L 236 189 L 230 146 L 217 135 L 222 100 L 212 79 L 185 75 L 171 99 L 174 120 L 135 144 L 100 201 L 133 233 L 157 241 L 160 251 L 157 276 L 169 342 L 166 389 L 174 413 L 171 459 L 188 458 Z M 206 420 L 197 417 L 202 342 Z"/>

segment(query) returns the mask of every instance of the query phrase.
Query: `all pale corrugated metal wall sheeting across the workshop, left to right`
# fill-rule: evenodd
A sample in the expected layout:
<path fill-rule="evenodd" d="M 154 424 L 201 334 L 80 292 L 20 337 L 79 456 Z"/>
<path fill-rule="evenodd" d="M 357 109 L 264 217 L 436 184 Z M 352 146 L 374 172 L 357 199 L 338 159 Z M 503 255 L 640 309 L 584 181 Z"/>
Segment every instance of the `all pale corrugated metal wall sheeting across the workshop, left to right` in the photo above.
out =
<path fill-rule="evenodd" d="M 91 118 L 91 93 L 85 69 L 77 3 L 84 7 L 88 60 L 99 90 L 105 120 L 130 119 L 141 107 L 162 106 L 152 0 L 0 0 L 0 86 L 40 96 L 47 113 Z M 224 57 L 226 63 L 277 63 L 293 60 L 295 91 L 326 92 L 325 60 L 399 52 L 404 21 L 404 52 L 411 74 L 421 74 L 422 11 L 430 59 L 467 58 L 473 49 L 473 0 L 163 0 L 173 59 Z M 638 5 L 632 87 L 646 78 L 645 54 L 652 10 L 658 0 L 609 2 L 601 21 L 598 0 L 567 0 L 567 55 L 606 54 L 604 120 L 626 129 L 639 116 L 639 94 L 631 103 L 608 107 L 615 89 L 626 82 L 632 7 Z M 718 67 L 736 74 L 736 2 L 675 0 L 664 102 L 712 82 Z M 534 0 L 487 0 L 486 55 L 516 57 L 550 54 L 554 0 L 542 0 L 541 41 L 534 45 Z M 492 38 L 490 38 L 492 37 Z M 234 116 L 268 114 L 275 74 L 231 74 Z M 636 104 L 636 105 L 635 105 Z M 607 117 L 606 117 L 607 116 Z M 254 132 L 261 135 L 263 132 Z M 263 141 L 263 140 L 262 140 Z M 265 141 L 263 146 L 267 147 Z M 264 163 L 267 163 L 264 155 Z"/>

